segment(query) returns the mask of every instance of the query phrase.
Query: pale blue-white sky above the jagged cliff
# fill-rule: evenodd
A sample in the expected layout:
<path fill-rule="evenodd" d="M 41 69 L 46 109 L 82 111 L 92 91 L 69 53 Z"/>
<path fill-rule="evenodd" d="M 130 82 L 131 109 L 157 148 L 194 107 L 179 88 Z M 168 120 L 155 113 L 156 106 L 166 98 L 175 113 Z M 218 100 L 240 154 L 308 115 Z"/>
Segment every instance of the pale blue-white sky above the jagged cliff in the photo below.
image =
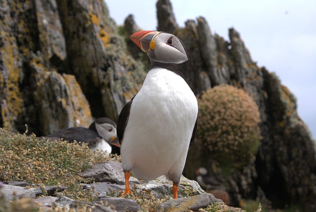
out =
<path fill-rule="evenodd" d="M 105 0 L 118 25 L 129 14 L 143 30 L 157 29 L 157 0 Z M 298 114 L 316 139 L 316 0 L 171 0 L 180 27 L 203 16 L 229 41 L 239 32 L 253 61 L 276 72 L 297 98 Z"/>

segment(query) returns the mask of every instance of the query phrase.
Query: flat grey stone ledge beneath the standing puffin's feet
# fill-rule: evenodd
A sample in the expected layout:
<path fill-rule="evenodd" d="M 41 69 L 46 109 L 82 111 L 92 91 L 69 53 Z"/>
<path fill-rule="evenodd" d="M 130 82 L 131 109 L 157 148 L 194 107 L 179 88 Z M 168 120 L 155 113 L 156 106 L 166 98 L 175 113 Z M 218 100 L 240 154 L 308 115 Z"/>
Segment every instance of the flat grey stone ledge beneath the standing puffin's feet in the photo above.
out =
<path fill-rule="evenodd" d="M 43 209 L 66 208 L 81 209 L 85 208 L 92 212 L 123 212 L 123 211 L 140 211 L 141 207 L 136 200 L 128 197 L 113 197 L 113 193 L 120 194 L 124 189 L 124 175 L 121 170 L 121 163 L 110 160 L 102 164 L 96 164 L 94 167 L 82 171 L 82 176 L 86 178 L 93 177 L 92 184 L 81 184 L 82 189 L 91 189 L 92 194 L 97 197 L 97 201 L 88 203 L 73 200 L 66 196 L 56 197 L 56 191 L 62 191 L 67 187 L 62 186 L 45 186 L 44 188 L 36 187 L 34 184 L 27 182 L 5 181 L 2 182 L 0 189 L 0 198 L 3 195 L 7 200 L 14 198 L 31 198 L 40 204 Z M 211 205 L 212 203 L 221 203 L 222 200 L 216 199 L 212 194 L 205 193 L 198 183 L 181 177 L 179 186 L 179 199 L 172 199 L 172 182 L 159 177 L 155 180 L 142 181 L 131 177 L 130 184 L 133 193 L 151 196 L 151 198 L 166 199 L 157 207 L 158 212 L 166 211 L 197 211 L 200 208 Z M 26 186 L 32 187 L 27 189 Z M 46 196 L 43 196 L 43 195 Z M 112 195 L 111 195 L 112 194 Z M 168 200 L 169 199 L 169 200 Z"/>

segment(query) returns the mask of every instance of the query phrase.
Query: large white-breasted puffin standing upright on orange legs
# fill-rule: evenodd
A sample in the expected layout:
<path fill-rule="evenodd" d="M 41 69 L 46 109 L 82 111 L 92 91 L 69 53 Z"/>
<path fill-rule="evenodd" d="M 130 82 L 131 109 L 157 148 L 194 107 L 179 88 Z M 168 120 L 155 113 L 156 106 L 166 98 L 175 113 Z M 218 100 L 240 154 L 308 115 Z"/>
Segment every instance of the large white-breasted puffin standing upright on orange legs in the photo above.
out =
<path fill-rule="evenodd" d="M 190 143 L 197 129 L 197 98 L 185 81 L 188 56 L 183 42 L 165 32 L 140 31 L 130 36 L 150 58 L 150 68 L 139 92 L 118 116 L 118 140 L 125 177 L 151 180 L 165 176 L 173 182 L 173 198 Z"/>

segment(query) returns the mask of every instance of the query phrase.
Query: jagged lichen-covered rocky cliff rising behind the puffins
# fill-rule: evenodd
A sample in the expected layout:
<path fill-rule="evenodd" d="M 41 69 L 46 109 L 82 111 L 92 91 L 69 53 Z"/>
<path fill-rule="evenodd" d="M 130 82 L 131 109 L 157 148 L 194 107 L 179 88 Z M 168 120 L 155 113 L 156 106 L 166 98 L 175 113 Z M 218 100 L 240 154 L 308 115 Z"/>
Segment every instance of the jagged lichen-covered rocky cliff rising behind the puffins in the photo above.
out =
<path fill-rule="evenodd" d="M 1 127 L 24 132 L 27 124 L 41 136 L 88 126 L 92 116 L 117 120 L 140 89 L 148 61 L 126 46 L 102 0 L 0 0 L 0 5 Z M 301 204 L 315 211 L 315 144 L 291 92 L 252 61 L 235 29 L 229 29 L 227 41 L 212 34 L 203 17 L 179 28 L 169 0 L 158 0 L 157 17 L 159 31 L 184 41 L 187 81 L 197 95 L 230 84 L 243 88 L 259 107 L 256 160 L 225 179 L 232 203 L 256 198 L 262 190 L 274 207 Z M 132 16 L 125 29 L 125 35 L 139 29 Z M 210 167 L 201 155 L 193 144 L 186 177 L 194 179 L 199 166 Z"/>

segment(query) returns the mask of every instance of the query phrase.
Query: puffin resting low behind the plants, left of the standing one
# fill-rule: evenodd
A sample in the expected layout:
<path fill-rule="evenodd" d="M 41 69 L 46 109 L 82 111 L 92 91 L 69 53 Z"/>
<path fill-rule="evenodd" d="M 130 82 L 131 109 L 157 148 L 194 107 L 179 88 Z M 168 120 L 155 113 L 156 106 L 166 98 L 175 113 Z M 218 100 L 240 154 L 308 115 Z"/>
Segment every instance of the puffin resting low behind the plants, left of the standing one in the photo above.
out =
<path fill-rule="evenodd" d="M 89 126 L 70 127 L 61 129 L 55 133 L 45 136 L 46 140 L 56 141 L 63 139 L 64 141 L 88 143 L 89 149 L 94 152 L 96 150 L 106 152 L 110 155 L 112 145 L 120 147 L 117 138 L 117 125 L 109 118 L 101 117 L 95 119 Z"/>

